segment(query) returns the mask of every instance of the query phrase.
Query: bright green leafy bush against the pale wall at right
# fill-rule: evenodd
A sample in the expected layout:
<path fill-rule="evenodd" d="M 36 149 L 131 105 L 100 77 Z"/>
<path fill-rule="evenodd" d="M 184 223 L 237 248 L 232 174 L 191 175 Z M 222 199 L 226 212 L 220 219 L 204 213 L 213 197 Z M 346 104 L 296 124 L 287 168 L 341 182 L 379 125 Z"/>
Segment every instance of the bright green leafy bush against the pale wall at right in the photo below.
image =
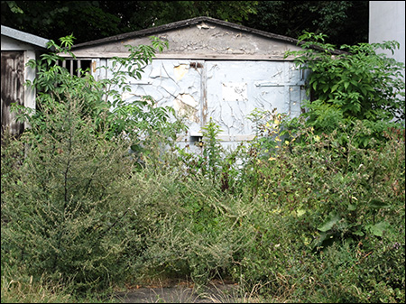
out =
<path fill-rule="evenodd" d="M 334 45 L 324 43 L 326 35 L 305 32 L 299 41 L 303 51 L 296 62 L 309 69 L 308 93 L 325 105 L 337 106 L 345 118 L 404 120 L 404 64 L 378 49 L 395 50 L 399 42 Z"/>

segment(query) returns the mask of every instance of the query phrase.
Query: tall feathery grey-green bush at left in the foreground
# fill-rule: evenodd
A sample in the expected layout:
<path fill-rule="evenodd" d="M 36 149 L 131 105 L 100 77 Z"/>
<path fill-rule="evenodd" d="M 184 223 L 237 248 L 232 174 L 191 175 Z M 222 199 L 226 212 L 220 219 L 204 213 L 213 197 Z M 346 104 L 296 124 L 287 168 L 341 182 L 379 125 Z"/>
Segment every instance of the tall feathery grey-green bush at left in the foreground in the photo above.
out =
<path fill-rule="evenodd" d="M 125 274 L 127 245 L 139 242 L 122 191 L 134 161 L 128 143 L 93 133 L 85 101 L 54 102 L 58 111 L 42 113 L 47 128 L 10 143 L 30 143 L 25 152 L 2 149 L 2 263 L 71 278 L 78 290 L 106 287 Z"/>

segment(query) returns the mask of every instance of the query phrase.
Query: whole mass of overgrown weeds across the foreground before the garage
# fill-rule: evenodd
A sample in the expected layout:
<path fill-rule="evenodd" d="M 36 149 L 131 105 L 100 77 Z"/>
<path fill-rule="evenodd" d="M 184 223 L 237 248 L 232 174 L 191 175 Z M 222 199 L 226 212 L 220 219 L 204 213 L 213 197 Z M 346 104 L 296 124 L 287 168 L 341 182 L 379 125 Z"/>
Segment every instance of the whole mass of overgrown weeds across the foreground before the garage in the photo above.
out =
<path fill-rule="evenodd" d="M 138 116 L 139 137 L 65 93 L 2 147 L 2 301 L 180 278 L 235 281 L 243 301 L 404 302 L 404 126 L 323 133 L 259 111 L 253 142 L 223 151 L 210 121 L 194 156 L 174 152 L 164 109 L 163 129 Z"/>

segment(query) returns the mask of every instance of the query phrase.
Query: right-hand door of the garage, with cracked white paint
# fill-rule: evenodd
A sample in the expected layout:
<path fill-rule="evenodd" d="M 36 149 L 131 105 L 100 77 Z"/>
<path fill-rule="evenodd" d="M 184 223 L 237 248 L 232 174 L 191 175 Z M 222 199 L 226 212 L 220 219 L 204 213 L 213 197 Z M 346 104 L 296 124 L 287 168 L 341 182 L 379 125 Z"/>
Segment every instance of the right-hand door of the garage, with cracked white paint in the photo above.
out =
<path fill-rule="evenodd" d="M 300 114 L 305 95 L 300 71 L 291 62 L 207 61 L 206 69 L 208 116 L 220 124 L 223 134 L 253 134 L 247 116 L 254 108 Z"/>

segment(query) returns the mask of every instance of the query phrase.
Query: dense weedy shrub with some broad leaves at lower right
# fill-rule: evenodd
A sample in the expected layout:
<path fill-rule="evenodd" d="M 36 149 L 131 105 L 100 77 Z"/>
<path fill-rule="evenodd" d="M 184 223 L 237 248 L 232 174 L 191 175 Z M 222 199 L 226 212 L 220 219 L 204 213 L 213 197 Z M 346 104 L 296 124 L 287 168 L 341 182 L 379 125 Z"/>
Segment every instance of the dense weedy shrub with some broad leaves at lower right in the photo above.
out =
<path fill-rule="evenodd" d="M 337 133 L 319 136 L 302 125 L 300 144 L 283 145 L 275 161 L 258 163 L 258 195 L 270 213 L 263 207 L 266 219 L 257 217 L 271 232 L 264 251 L 258 244 L 250 251 L 245 270 L 268 282 L 263 290 L 270 294 L 316 302 L 404 299 L 403 134 L 361 149 L 353 144 L 363 124 L 358 128 L 343 146 Z M 272 261 L 275 240 L 281 245 Z M 268 266 L 254 268 L 254 261 Z"/>

